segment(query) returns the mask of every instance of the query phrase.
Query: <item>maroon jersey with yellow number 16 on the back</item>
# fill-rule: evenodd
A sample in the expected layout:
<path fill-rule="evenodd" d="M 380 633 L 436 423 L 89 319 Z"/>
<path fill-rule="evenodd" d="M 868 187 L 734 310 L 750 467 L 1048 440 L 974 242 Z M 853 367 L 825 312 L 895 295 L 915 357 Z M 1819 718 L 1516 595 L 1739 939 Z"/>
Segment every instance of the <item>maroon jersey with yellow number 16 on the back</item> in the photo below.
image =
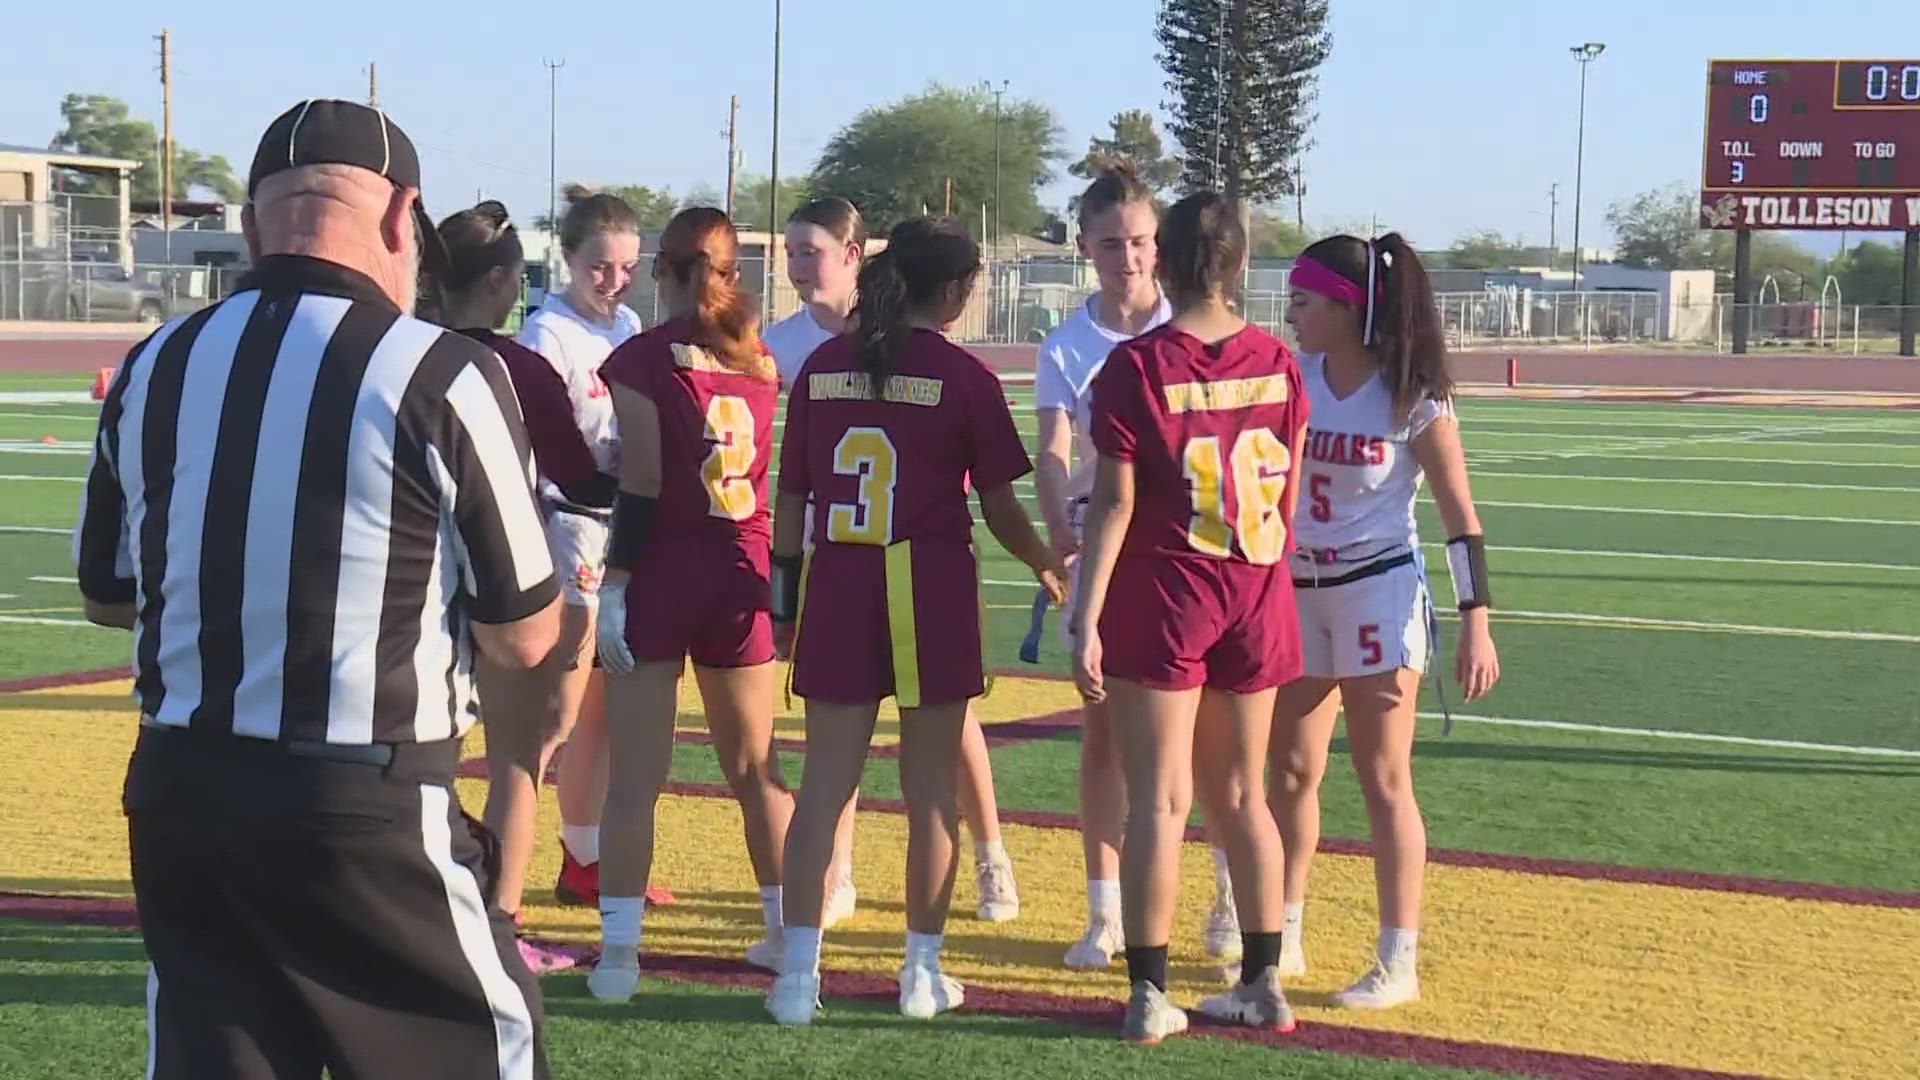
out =
<path fill-rule="evenodd" d="M 1306 421 L 1300 369 L 1260 327 L 1210 346 L 1164 325 L 1114 348 L 1092 380 L 1092 442 L 1133 463 L 1121 553 L 1284 559 L 1292 446 Z"/>

